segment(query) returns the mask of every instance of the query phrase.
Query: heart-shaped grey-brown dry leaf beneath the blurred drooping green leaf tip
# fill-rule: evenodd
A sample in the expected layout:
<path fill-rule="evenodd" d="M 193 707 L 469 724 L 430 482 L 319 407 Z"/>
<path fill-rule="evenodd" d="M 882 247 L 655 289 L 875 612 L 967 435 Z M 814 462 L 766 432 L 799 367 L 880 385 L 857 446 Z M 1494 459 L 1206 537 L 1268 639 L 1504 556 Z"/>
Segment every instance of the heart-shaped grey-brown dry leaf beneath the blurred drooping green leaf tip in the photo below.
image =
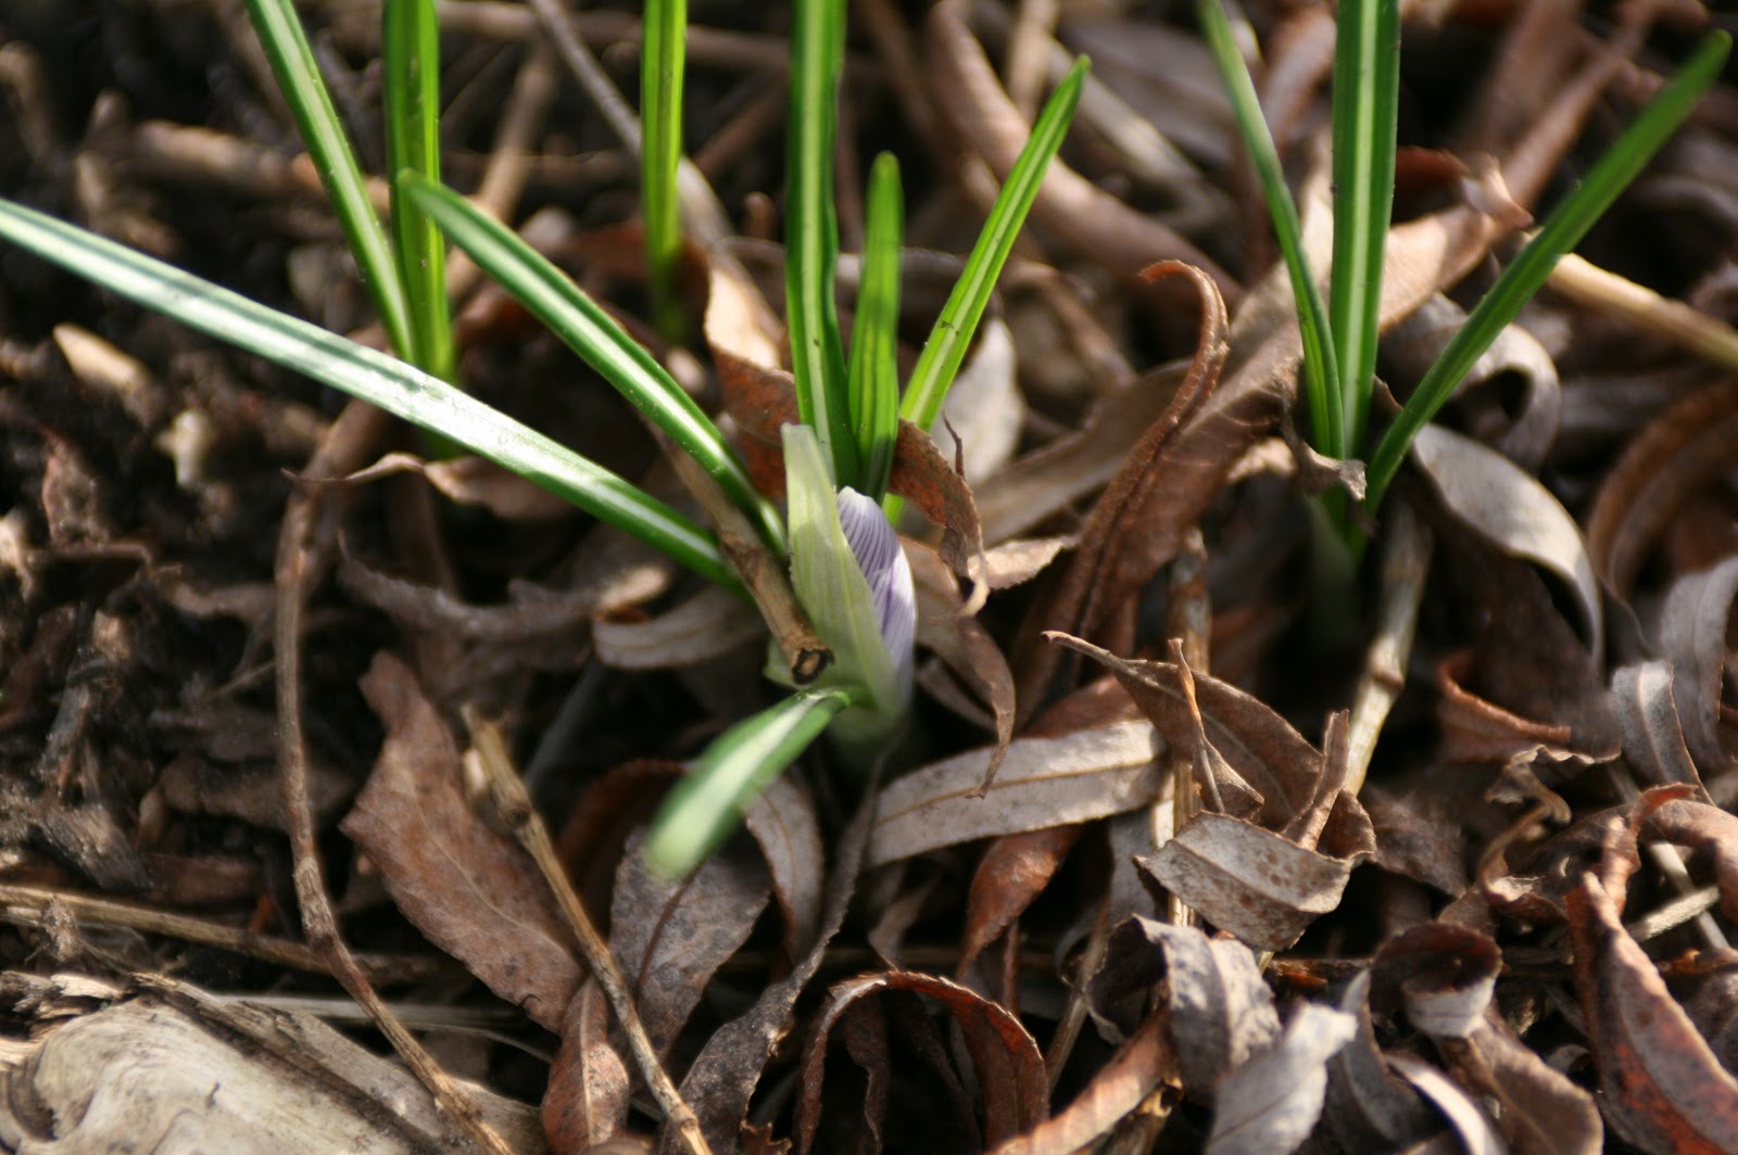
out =
<path fill-rule="evenodd" d="M 766 863 L 728 842 L 685 879 L 666 879 L 629 841 L 615 872 L 610 954 L 659 1054 L 681 1033 L 706 985 L 747 941 L 772 894 Z"/>

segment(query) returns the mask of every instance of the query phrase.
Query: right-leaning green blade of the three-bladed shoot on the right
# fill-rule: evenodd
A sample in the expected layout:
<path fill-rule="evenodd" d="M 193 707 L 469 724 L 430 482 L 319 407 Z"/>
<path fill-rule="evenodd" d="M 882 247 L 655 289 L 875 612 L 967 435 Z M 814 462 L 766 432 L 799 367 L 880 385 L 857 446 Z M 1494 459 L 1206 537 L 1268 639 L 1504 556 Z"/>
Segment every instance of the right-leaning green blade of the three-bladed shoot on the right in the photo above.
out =
<path fill-rule="evenodd" d="M 1689 63 L 1648 101 L 1635 122 L 1618 135 L 1599 163 L 1547 217 L 1538 234 L 1496 278 L 1376 443 L 1370 457 L 1366 511 L 1375 512 L 1380 507 L 1413 438 L 1448 403 L 1467 370 L 1484 356 L 1503 327 L 1521 314 L 1521 307 L 1545 283 L 1557 261 L 1580 243 L 1587 229 L 1604 215 L 1689 116 L 1702 94 L 1719 80 L 1729 50 L 1729 35 L 1705 36 Z"/>

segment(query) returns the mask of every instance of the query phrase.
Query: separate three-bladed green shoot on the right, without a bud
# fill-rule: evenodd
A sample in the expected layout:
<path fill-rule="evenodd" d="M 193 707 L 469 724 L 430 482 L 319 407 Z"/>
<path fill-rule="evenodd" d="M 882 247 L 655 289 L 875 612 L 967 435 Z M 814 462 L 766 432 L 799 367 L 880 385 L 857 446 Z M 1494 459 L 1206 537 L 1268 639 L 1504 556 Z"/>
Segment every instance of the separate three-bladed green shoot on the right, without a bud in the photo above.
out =
<path fill-rule="evenodd" d="M 1201 30 L 1231 90 L 1237 129 L 1255 162 L 1274 234 L 1297 299 L 1304 339 L 1304 393 L 1314 448 L 1333 459 L 1370 450 L 1378 311 L 1394 207 L 1399 109 L 1399 0 L 1340 0 L 1333 59 L 1333 267 L 1328 302 L 1304 252 L 1304 229 L 1286 188 L 1255 83 L 1237 52 L 1222 0 L 1197 0 Z M 1710 33 L 1689 63 L 1648 102 L 1582 182 L 1562 198 L 1509 262 L 1425 372 L 1368 455 L 1364 512 L 1373 519 L 1406 450 L 1448 403 L 1472 365 L 1519 316 L 1557 261 L 1571 252 L 1641 174 L 1719 78 L 1731 38 Z M 1340 512 L 1343 514 L 1343 502 Z M 1347 544 L 1356 521 L 1340 516 Z"/>

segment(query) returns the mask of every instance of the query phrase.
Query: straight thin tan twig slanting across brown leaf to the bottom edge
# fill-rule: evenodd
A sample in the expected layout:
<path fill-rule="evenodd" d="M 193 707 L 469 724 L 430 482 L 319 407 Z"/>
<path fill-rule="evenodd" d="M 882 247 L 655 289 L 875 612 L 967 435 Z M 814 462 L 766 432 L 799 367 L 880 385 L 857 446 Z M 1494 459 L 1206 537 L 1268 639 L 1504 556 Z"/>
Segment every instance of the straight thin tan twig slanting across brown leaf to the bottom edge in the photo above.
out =
<path fill-rule="evenodd" d="M 567 872 L 561 868 L 561 860 L 556 858 L 549 830 L 525 792 L 525 782 L 513 766 L 507 745 L 501 738 L 501 729 L 480 719 L 471 709 L 466 709 L 464 723 L 471 729 L 471 745 L 481 762 L 495 811 L 513 832 L 513 837 L 518 839 L 520 846 L 525 848 L 525 853 L 537 863 L 549 889 L 554 891 L 556 901 L 561 905 L 561 914 L 567 915 L 568 926 L 574 929 L 574 938 L 579 941 L 580 955 L 591 969 L 591 978 L 603 988 L 603 997 L 610 1000 L 615 1021 L 622 1025 L 622 1033 L 627 1035 L 627 1053 L 640 1068 L 640 1077 L 647 1080 L 652 1098 L 664 1110 L 666 1120 L 671 1124 L 674 1134 L 680 1136 L 688 1155 L 711 1155 L 711 1146 L 707 1146 L 706 1136 L 700 1134 L 700 1120 L 693 1117 L 681 1092 L 676 1091 L 676 1084 L 671 1082 L 669 1073 L 664 1070 L 664 1063 L 659 1061 L 657 1047 L 652 1046 L 652 1039 L 640 1021 L 633 992 L 627 988 L 627 980 L 622 976 L 620 967 L 615 966 L 610 945 L 603 941 L 591 915 L 586 914 L 586 905 L 574 891 L 572 882 L 568 882 Z"/>

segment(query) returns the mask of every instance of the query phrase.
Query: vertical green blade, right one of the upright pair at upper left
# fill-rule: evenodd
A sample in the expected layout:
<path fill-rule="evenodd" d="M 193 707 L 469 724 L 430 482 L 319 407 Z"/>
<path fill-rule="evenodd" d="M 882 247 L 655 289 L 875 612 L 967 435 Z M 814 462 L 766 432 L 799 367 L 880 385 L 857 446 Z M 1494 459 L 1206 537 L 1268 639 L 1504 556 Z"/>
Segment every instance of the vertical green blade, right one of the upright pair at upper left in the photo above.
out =
<path fill-rule="evenodd" d="M 381 28 L 386 69 L 386 170 L 440 181 L 440 24 L 433 0 L 386 0 Z M 410 306 L 407 360 L 454 380 L 447 240 L 393 179 L 393 255 Z"/>

